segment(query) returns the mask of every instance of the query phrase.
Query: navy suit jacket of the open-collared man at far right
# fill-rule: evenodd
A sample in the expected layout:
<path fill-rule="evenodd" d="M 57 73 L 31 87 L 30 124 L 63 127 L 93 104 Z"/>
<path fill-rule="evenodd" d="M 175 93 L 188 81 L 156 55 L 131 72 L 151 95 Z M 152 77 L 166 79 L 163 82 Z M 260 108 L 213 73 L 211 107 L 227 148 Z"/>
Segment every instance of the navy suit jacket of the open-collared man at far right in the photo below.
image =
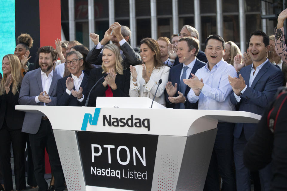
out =
<path fill-rule="evenodd" d="M 245 84 L 249 85 L 251 73 L 251 65 L 242 68 L 239 72 L 245 80 Z M 251 87 L 247 87 L 240 96 L 241 100 L 236 101 L 233 91 L 231 91 L 230 100 L 239 111 L 248 111 L 262 115 L 267 105 L 274 99 L 277 88 L 283 85 L 283 73 L 270 61 L 267 61 L 260 69 Z M 236 123 L 234 128 L 234 137 L 239 138 L 244 129 L 244 135 L 248 140 L 254 134 L 256 124 Z"/>

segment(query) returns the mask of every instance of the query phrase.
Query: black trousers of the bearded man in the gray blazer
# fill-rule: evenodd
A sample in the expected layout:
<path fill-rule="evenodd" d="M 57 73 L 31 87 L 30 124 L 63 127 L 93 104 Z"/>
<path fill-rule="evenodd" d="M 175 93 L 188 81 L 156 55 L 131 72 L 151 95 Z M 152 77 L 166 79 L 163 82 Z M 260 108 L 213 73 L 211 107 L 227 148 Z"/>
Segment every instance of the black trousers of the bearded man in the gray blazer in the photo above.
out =
<path fill-rule="evenodd" d="M 45 148 L 49 155 L 51 169 L 55 177 L 55 191 L 65 190 L 65 178 L 49 120 L 42 120 L 39 131 L 36 134 L 29 134 L 29 140 L 34 164 L 34 174 L 39 186 L 39 191 L 48 190 L 48 184 L 44 179 Z"/>

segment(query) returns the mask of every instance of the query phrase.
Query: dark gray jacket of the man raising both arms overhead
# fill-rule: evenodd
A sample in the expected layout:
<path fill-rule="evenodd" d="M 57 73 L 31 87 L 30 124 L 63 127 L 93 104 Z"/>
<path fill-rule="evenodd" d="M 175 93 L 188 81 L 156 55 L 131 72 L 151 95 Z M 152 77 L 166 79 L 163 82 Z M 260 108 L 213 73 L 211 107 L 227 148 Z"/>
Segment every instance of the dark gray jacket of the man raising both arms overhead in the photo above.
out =
<path fill-rule="evenodd" d="M 97 46 L 89 51 L 86 60 L 95 65 L 102 65 L 103 53 L 100 53 L 102 49 L 96 49 L 96 47 Z M 139 48 L 133 49 L 129 43 L 125 42 L 122 46 L 120 46 L 120 49 L 123 51 L 121 56 L 123 58 L 122 64 L 124 69 L 129 70 L 130 65 L 135 66 L 142 63 Z"/>

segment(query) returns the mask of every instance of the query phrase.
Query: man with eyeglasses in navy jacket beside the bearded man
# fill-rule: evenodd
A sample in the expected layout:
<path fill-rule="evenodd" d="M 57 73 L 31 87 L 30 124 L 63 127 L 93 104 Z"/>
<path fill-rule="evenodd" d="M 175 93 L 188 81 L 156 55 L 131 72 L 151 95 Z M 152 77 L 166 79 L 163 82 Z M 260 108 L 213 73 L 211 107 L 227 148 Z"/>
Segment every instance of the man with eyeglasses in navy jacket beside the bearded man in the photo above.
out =
<path fill-rule="evenodd" d="M 83 106 L 88 90 L 88 76 L 83 73 L 83 55 L 78 51 L 67 53 L 69 76 L 58 80 L 57 104 L 60 106 Z"/>

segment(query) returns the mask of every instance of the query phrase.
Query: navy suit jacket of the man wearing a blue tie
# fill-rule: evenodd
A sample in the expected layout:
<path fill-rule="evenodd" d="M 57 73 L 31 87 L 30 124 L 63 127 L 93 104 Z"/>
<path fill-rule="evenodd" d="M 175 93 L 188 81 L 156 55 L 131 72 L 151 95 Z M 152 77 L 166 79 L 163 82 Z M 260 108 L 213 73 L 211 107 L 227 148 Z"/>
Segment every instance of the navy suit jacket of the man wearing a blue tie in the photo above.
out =
<path fill-rule="evenodd" d="M 206 63 L 200 61 L 199 59 L 196 58 L 196 61 L 194 63 L 194 66 L 191 70 L 191 73 L 195 74 L 196 71 L 199 69 L 199 68 L 202 68 L 205 66 Z M 174 85 L 175 83 L 177 83 L 177 91 L 176 91 L 176 94 L 174 97 L 177 97 L 179 96 L 178 95 L 178 91 L 179 91 L 179 82 L 180 82 L 180 73 L 181 73 L 181 69 L 182 69 L 182 66 L 183 66 L 183 63 L 180 63 L 174 67 L 172 67 L 170 69 L 170 73 L 169 73 L 169 76 L 168 76 L 168 81 L 171 81 L 172 82 L 172 85 Z M 189 75 L 188 78 L 191 78 L 191 74 Z M 183 82 L 182 82 L 183 83 Z M 184 92 L 184 96 L 186 98 L 186 102 L 184 104 L 185 106 L 185 109 L 195 109 L 197 110 L 198 108 L 198 101 L 196 103 L 190 103 L 187 99 L 187 94 L 190 90 L 190 87 L 186 86 L 186 89 L 185 89 L 185 92 Z M 181 92 L 183 93 L 183 92 Z M 172 107 L 174 109 L 179 109 L 179 106 L 180 104 L 174 104 L 174 103 L 171 103 L 169 100 L 168 100 L 168 94 L 167 94 L 167 91 L 165 90 L 164 91 L 164 95 L 165 95 L 165 101 L 166 101 L 166 106 L 167 107 Z"/>

